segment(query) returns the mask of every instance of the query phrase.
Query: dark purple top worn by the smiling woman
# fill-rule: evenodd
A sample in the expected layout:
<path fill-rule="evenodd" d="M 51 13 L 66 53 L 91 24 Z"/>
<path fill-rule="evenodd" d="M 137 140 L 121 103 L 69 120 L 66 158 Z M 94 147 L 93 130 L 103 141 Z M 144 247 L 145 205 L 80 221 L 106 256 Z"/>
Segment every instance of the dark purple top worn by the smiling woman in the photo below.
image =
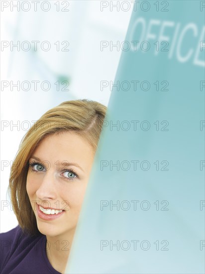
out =
<path fill-rule="evenodd" d="M 0 233 L 0 274 L 60 274 L 48 261 L 46 236 L 30 236 L 20 226 Z"/>

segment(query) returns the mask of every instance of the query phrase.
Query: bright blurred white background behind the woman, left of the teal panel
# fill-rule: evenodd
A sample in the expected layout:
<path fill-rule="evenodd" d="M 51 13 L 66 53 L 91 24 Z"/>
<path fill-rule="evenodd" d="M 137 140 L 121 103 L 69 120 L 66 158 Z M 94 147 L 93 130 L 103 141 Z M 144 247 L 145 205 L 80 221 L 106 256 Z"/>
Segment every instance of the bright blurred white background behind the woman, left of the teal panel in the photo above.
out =
<path fill-rule="evenodd" d="M 101 41 L 124 40 L 133 5 L 110 12 L 99 0 L 42 2 L 35 11 L 31 1 L 1 1 L 0 232 L 17 225 L 6 190 L 20 140 L 61 102 L 85 98 L 107 106 L 111 91 L 101 91 L 101 81 L 114 80 L 121 49 L 101 51 Z M 43 41 L 50 50 L 42 50 Z"/>

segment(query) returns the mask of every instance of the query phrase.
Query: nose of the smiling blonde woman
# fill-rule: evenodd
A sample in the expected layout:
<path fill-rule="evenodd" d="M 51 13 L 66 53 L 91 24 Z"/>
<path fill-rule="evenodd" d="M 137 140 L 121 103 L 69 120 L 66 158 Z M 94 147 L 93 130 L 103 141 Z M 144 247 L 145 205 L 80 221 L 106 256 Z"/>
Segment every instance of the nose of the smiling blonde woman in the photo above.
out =
<path fill-rule="evenodd" d="M 36 196 L 42 200 L 56 199 L 56 173 L 52 170 L 45 171 L 41 177 L 40 186 L 36 191 Z"/>

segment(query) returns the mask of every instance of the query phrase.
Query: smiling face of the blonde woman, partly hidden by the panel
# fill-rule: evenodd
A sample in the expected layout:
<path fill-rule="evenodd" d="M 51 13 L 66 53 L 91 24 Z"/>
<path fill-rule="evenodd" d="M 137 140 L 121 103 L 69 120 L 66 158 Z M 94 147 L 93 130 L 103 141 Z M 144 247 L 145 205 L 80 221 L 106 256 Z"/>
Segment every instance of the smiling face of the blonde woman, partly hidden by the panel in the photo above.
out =
<path fill-rule="evenodd" d="M 87 140 L 74 132 L 45 137 L 34 151 L 26 190 L 42 234 L 75 231 L 94 154 Z"/>

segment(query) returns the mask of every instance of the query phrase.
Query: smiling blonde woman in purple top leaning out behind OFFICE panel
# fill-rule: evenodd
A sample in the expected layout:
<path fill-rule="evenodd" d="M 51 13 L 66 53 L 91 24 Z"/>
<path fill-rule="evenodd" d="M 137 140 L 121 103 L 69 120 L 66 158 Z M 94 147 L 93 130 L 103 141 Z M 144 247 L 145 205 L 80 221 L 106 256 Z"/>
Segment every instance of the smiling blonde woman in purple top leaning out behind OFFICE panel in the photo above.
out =
<path fill-rule="evenodd" d="M 19 225 L 0 234 L 0 274 L 65 273 L 105 112 L 64 102 L 22 139 L 9 178 Z"/>

